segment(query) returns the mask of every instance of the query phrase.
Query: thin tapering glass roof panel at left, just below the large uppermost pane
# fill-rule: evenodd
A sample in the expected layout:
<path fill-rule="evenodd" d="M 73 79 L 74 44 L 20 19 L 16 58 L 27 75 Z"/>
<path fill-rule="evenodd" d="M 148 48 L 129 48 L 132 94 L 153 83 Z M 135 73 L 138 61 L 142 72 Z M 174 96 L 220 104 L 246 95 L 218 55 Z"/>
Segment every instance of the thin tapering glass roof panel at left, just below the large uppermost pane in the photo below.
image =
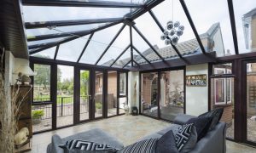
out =
<path fill-rule="evenodd" d="M 54 29 L 49 28 L 38 28 L 38 29 L 26 29 L 26 36 L 38 36 L 38 35 L 48 35 L 48 34 L 55 34 L 55 33 L 62 33 L 62 32 L 73 32 L 73 31 L 87 31 L 90 29 L 97 28 L 98 26 L 104 26 L 108 24 L 90 24 L 90 25 L 79 25 L 79 26 L 59 26 L 55 27 Z"/>

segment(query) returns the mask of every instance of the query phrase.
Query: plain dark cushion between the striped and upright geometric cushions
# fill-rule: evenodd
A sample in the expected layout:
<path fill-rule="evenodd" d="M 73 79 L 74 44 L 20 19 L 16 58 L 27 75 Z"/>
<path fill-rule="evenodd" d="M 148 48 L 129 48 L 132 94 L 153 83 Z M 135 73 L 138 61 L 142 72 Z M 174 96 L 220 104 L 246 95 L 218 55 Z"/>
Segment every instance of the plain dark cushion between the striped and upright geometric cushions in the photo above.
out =
<path fill-rule="evenodd" d="M 178 153 L 172 130 L 165 133 L 156 143 L 155 153 Z"/>

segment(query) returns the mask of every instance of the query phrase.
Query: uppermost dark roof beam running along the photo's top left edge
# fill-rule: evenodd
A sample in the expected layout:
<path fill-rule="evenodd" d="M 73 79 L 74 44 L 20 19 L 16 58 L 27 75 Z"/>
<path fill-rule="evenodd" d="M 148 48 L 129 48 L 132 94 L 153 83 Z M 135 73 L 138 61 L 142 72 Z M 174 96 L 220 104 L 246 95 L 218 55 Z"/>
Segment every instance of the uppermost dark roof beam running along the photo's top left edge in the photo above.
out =
<path fill-rule="evenodd" d="M 140 3 L 81 0 L 22 0 L 26 6 L 94 7 L 94 8 L 143 8 Z"/>

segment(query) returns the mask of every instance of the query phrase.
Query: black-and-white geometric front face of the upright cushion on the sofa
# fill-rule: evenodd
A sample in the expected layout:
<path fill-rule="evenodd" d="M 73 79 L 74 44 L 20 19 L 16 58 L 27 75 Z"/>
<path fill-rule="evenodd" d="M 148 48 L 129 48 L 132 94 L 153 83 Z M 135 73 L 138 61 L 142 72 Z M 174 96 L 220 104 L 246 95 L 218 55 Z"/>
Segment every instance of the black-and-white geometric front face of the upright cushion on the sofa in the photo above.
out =
<path fill-rule="evenodd" d="M 178 151 L 181 151 L 185 144 L 189 141 L 189 137 L 192 132 L 192 127 L 194 127 L 193 123 L 185 124 L 181 127 L 178 127 L 176 131 L 173 131 Z"/>

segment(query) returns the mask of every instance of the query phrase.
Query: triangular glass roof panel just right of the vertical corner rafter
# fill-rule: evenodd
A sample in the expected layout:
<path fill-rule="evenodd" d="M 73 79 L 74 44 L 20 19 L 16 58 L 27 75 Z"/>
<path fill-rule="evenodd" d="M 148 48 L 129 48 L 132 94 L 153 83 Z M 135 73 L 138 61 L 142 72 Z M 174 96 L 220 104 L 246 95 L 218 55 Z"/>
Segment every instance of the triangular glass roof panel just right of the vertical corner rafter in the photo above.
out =
<path fill-rule="evenodd" d="M 154 53 L 154 51 L 148 46 L 148 43 L 143 40 L 141 36 L 132 29 L 132 43 L 135 48 L 138 49 L 138 51 L 143 54 L 149 61 L 158 61 L 161 60 L 157 54 Z M 153 44 L 152 44 L 153 45 Z M 143 62 L 142 59 L 136 60 L 138 63 Z"/>

